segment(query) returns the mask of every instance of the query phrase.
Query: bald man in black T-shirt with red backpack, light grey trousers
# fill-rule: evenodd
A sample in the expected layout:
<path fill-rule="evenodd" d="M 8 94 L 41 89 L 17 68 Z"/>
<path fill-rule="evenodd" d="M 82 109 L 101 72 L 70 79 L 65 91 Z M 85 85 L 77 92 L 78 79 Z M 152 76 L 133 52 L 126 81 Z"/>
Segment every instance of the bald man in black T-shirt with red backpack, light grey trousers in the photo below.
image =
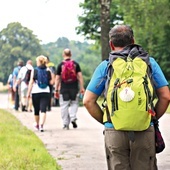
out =
<path fill-rule="evenodd" d="M 80 65 L 71 59 L 70 49 L 63 51 L 64 60 L 58 65 L 55 80 L 55 97 L 59 98 L 63 129 L 68 130 L 70 122 L 77 128 L 78 95 L 84 94 L 83 76 Z"/>

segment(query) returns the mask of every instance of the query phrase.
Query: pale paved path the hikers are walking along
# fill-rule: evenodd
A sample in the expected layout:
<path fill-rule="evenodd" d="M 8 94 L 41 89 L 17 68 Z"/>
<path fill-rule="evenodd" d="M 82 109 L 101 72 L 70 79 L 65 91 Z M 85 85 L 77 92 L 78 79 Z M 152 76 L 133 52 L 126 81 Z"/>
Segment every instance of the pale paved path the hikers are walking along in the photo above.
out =
<path fill-rule="evenodd" d="M 84 107 L 77 113 L 78 128 L 62 129 L 60 108 L 53 107 L 47 112 L 44 132 L 33 129 L 34 115 L 9 108 L 8 97 L 0 94 L 0 108 L 8 109 L 21 123 L 42 140 L 49 153 L 63 170 L 107 170 L 104 152 L 103 126 L 88 114 Z M 160 119 L 160 130 L 166 149 L 157 154 L 159 170 L 170 170 L 170 115 Z"/>

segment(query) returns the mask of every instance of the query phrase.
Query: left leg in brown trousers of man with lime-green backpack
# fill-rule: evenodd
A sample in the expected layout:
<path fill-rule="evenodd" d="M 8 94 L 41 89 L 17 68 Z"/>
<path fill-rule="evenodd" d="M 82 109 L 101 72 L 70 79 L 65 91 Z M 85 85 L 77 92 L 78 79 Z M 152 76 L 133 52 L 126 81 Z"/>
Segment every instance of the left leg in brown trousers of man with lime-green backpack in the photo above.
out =
<path fill-rule="evenodd" d="M 130 168 L 129 138 L 126 132 L 105 129 L 105 151 L 108 170 L 132 170 Z"/>

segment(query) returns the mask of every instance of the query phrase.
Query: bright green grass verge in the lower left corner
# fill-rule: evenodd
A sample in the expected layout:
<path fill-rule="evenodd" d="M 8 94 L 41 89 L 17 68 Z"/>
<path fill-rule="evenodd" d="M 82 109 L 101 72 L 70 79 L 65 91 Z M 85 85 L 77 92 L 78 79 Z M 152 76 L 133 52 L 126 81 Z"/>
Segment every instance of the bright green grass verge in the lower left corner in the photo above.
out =
<path fill-rule="evenodd" d="M 42 141 L 12 114 L 0 109 L 1 170 L 61 170 Z"/>

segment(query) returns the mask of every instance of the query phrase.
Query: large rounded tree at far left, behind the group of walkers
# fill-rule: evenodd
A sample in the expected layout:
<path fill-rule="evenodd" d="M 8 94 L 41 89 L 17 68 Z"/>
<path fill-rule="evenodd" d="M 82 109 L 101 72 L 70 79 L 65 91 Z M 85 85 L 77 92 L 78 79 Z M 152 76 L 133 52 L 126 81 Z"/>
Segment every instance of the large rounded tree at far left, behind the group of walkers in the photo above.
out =
<path fill-rule="evenodd" d="M 18 22 L 8 24 L 0 32 L 0 81 L 6 83 L 19 59 L 34 60 L 41 52 L 40 41 L 31 30 Z"/>

